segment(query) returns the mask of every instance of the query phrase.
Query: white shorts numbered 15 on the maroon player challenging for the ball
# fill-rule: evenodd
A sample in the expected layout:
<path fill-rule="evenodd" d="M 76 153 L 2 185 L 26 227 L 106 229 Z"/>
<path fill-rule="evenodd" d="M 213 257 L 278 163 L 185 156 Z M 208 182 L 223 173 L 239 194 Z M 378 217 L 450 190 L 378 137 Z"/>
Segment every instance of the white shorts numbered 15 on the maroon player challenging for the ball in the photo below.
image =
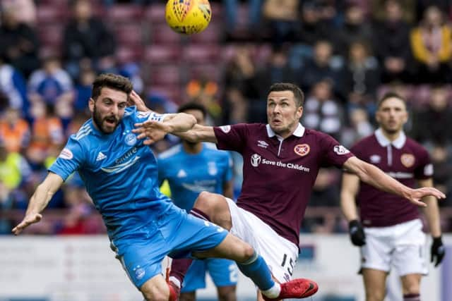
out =
<path fill-rule="evenodd" d="M 297 245 L 278 235 L 251 212 L 237 207 L 232 199 L 226 200 L 232 219 L 230 233 L 254 247 L 278 281 L 290 281 L 298 259 Z"/>

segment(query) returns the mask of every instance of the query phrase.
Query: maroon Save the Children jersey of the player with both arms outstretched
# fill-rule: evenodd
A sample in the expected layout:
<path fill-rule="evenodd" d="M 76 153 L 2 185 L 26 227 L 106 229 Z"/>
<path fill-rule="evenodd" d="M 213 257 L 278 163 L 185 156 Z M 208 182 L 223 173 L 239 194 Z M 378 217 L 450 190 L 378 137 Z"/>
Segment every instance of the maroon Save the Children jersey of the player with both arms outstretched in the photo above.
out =
<path fill-rule="evenodd" d="M 299 228 L 319 168 L 342 166 L 352 154 L 333 137 L 301 124 L 285 140 L 280 140 L 269 125 L 258 123 L 224 125 L 214 130 L 219 149 L 243 156 L 242 193 L 237 206 L 299 245 Z"/>

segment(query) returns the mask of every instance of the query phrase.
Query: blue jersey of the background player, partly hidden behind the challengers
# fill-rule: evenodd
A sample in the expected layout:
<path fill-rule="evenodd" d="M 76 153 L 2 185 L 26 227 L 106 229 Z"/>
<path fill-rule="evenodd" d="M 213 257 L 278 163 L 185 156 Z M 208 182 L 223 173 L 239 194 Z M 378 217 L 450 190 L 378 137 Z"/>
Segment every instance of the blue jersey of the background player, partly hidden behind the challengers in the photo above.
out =
<path fill-rule="evenodd" d="M 223 183 L 232 178 L 232 159 L 213 143 L 203 143 L 198 154 L 176 145 L 158 156 L 160 184 L 167 179 L 177 207 L 190 211 L 202 191 L 223 193 Z"/>

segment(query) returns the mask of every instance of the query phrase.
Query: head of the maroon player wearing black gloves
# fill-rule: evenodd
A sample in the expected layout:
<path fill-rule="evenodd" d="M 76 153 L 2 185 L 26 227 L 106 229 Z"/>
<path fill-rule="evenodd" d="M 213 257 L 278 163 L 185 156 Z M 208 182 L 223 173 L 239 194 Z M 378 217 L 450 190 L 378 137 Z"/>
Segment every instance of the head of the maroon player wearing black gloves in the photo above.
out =
<path fill-rule="evenodd" d="M 376 121 L 386 133 L 398 133 L 408 121 L 405 103 L 396 97 L 386 99 L 376 111 Z"/>

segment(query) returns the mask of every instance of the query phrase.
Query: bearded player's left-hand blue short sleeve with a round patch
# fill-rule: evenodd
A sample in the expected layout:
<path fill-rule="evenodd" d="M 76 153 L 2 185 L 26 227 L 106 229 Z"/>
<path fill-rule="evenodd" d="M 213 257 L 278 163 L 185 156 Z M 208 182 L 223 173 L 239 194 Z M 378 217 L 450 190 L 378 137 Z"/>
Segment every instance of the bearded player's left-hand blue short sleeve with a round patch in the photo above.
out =
<path fill-rule="evenodd" d="M 75 140 L 74 135 L 69 138 L 64 149 L 60 152 L 57 160 L 49 167 L 49 171 L 57 173 L 63 180 L 66 180 L 71 173 L 81 168 L 84 159 L 83 148 L 80 142 Z"/>

